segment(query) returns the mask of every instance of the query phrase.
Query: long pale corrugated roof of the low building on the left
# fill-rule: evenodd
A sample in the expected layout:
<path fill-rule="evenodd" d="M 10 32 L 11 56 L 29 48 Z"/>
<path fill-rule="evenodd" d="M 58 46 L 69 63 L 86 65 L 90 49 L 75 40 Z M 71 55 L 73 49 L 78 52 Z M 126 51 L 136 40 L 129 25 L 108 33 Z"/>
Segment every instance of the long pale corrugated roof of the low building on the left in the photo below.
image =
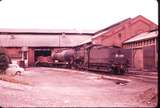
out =
<path fill-rule="evenodd" d="M 3 47 L 74 47 L 91 38 L 84 35 L 0 35 Z"/>

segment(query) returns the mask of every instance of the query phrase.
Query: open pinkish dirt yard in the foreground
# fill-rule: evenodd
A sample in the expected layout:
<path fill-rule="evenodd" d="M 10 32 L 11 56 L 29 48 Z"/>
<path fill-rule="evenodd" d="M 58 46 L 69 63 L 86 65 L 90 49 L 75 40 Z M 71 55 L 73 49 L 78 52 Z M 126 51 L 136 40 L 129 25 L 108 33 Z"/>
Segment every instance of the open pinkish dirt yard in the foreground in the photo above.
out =
<path fill-rule="evenodd" d="M 155 107 L 157 104 L 157 83 L 128 76 L 39 67 L 27 68 L 21 76 L 11 78 L 18 83 L 0 80 L 2 107 Z"/>

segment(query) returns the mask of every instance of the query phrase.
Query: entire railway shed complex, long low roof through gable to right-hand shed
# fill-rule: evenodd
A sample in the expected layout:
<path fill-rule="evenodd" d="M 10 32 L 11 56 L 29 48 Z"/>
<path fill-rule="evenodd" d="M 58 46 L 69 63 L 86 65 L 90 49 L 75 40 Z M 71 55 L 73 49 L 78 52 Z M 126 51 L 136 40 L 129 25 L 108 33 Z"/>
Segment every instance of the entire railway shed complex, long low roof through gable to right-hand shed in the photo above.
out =
<path fill-rule="evenodd" d="M 12 60 L 25 59 L 26 64 L 33 65 L 37 56 L 50 56 L 54 51 L 62 48 L 76 48 L 83 55 L 84 52 L 81 50 L 88 44 L 120 46 L 132 50 L 130 59 L 133 68 L 155 70 L 157 32 L 152 30 L 157 28 L 158 26 L 152 21 L 139 15 L 97 32 L 0 29 L 0 47 L 5 47 Z M 137 38 L 139 40 L 136 40 Z M 150 53 L 147 53 L 148 51 Z"/>

